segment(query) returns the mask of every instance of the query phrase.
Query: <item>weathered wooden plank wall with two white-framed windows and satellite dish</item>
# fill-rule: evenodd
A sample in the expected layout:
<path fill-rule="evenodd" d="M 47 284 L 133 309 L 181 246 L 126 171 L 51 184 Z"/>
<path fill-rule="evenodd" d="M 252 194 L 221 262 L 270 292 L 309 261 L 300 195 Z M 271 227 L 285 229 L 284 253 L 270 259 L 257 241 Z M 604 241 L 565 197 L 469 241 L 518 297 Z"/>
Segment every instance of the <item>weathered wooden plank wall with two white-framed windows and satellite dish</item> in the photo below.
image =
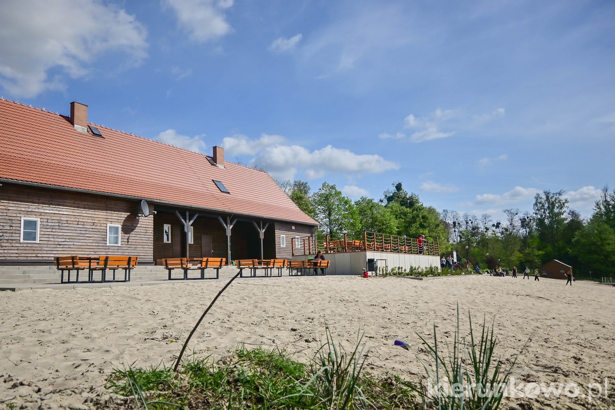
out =
<path fill-rule="evenodd" d="M 124 254 L 153 261 L 153 218 L 136 218 L 138 201 L 5 183 L 0 186 L 0 262 L 54 256 Z M 39 218 L 39 243 L 21 243 L 21 218 Z M 107 245 L 107 224 L 121 226 L 121 246 Z"/>

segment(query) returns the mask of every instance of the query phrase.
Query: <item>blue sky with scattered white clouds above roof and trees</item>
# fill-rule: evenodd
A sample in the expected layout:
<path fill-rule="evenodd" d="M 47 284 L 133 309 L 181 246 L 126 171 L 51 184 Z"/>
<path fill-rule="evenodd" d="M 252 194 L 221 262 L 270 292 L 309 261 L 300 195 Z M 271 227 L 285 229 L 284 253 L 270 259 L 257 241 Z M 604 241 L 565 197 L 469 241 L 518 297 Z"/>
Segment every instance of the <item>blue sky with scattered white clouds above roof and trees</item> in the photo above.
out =
<path fill-rule="evenodd" d="M 380 199 L 590 216 L 615 185 L 615 2 L 3 0 L 0 95 Z M 177 164 L 183 167 L 183 164 Z"/>

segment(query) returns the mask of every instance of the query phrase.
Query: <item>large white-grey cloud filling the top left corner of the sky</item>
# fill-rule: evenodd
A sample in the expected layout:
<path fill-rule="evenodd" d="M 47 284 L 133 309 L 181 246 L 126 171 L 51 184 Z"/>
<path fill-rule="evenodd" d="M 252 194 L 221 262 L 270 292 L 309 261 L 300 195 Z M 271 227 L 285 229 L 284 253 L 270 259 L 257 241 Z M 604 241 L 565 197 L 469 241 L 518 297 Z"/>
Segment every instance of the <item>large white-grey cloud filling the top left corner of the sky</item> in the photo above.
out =
<path fill-rule="evenodd" d="M 98 0 L 0 2 L 0 85 L 18 97 L 65 88 L 64 76 L 87 75 L 107 52 L 147 57 L 146 30 L 132 15 Z M 48 78 L 51 69 L 60 74 Z"/>

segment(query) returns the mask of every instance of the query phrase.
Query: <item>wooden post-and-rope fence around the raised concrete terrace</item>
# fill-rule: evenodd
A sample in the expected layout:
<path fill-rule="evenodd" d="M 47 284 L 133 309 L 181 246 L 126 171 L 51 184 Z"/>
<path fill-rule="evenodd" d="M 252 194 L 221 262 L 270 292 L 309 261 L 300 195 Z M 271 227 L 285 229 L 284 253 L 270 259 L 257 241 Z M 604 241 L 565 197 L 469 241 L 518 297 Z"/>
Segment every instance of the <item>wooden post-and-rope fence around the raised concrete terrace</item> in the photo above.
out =
<path fill-rule="evenodd" d="M 363 232 L 362 239 L 348 239 L 344 234 L 343 240 L 330 240 L 328 235 L 322 242 L 317 242 L 312 237 L 298 238 L 299 243 L 293 240 L 293 255 L 315 254 L 318 250 L 324 253 L 339 252 L 392 252 L 408 254 L 439 255 L 440 244 L 438 242 L 424 240 L 423 249 L 419 249 L 416 238 L 407 238 L 397 235 L 378 234 L 377 232 Z"/>

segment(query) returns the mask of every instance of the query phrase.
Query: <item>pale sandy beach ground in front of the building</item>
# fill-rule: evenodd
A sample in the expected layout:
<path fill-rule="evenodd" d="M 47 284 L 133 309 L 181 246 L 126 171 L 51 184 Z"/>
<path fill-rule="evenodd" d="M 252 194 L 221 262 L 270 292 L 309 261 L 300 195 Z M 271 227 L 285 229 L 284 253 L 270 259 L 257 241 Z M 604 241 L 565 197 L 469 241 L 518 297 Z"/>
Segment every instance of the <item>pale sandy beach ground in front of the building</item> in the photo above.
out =
<path fill-rule="evenodd" d="M 114 367 L 172 366 L 224 283 L 0 293 L 0 403 L 90 409 L 93 400 L 109 395 L 106 377 Z M 470 311 L 475 328 L 483 317 L 494 323 L 496 357 L 510 363 L 520 353 L 514 372 L 519 391 L 569 385 L 559 397 L 507 398 L 505 408 L 582 409 L 584 386 L 615 389 L 615 287 L 564 284 L 474 275 L 240 278 L 205 317 L 189 349 L 216 358 L 239 343 L 277 346 L 306 360 L 328 326 L 347 347 L 364 333 L 368 371 L 419 380 L 425 375 L 421 360 L 430 358 L 417 333 L 433 339 L 435 325 L 440 340 L 451 343 L 459 306 L 462 334 L 469 331 Z M 396 339 L 410 343 L 410 351 L 394 345 Z"/>

